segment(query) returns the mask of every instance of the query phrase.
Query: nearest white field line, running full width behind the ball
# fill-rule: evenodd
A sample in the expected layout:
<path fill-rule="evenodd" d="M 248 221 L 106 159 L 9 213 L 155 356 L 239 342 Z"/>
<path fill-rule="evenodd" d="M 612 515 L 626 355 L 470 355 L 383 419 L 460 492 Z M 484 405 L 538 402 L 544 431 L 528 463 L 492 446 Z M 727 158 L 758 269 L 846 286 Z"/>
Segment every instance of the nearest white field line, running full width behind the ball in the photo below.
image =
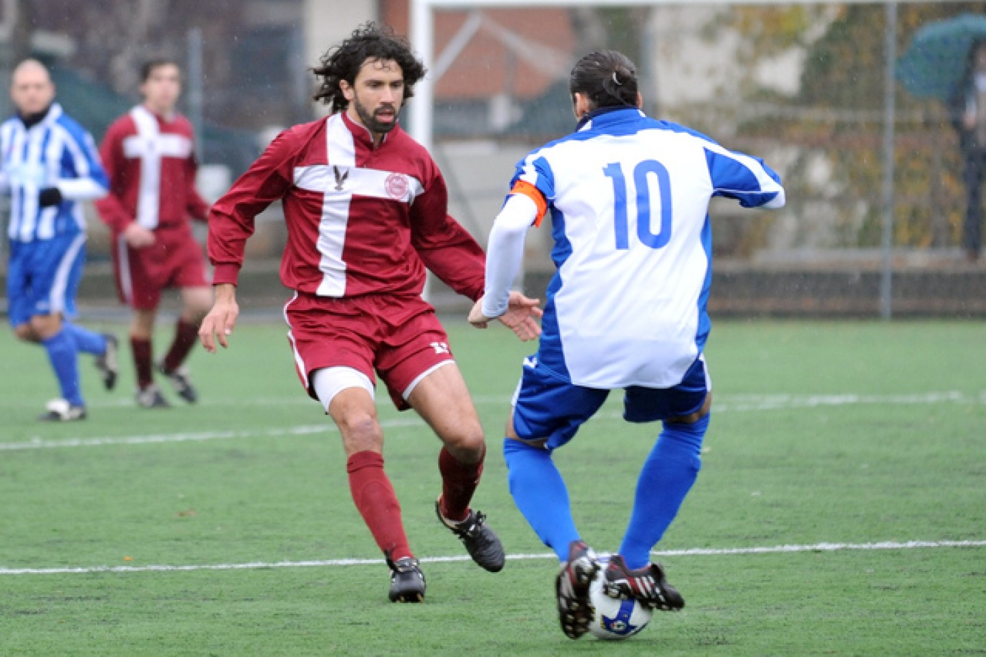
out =
<path fill-rule="evenodd" d="M 814 545 L 784 545 L 754 548 L 693 548 L 690 550 L 655 551 L 658 557 L 709 557 L 736 555 L 777 555 L 804 552 L 847 552 L 866 550 L 916 550 L 929 548 L 984 548 L 986 541 L 907 541 L 904 543 L 816 543 Z M 552 553 L 508 555 L 511 560 L 553 559 Z M 468 561 L 465 555 L 454 557 L 425 557 L 423 563 Z M 192 570 L 260 570 L 265 568 L 312 568 L 347 565 L 383 564 L 380 558 L 330 558 L 308 561 L 249 561 L 246 563 L 197 563 L 186 565 L 97 565 L 61 568 L 3 568 L 0 575 L 65 575 L 97 572 L 187 572 Z"/>

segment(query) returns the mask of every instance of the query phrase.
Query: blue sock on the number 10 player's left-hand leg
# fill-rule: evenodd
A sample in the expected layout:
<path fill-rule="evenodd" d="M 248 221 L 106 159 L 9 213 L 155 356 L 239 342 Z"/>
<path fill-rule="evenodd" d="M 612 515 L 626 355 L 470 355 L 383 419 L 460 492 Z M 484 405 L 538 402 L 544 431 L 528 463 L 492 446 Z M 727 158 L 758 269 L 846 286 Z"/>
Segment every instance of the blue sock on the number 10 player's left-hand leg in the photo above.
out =
<path fill-rule="evenodd" d="M 579 540 L 572 519 L 565 480 L 551 460 L 551 452 L 520 440 L 503 441 L 507 460 L 507 481 L 514 502 L 537 537 L 555 551 L 562 561 L 568 560 L 568 546 Z"/>

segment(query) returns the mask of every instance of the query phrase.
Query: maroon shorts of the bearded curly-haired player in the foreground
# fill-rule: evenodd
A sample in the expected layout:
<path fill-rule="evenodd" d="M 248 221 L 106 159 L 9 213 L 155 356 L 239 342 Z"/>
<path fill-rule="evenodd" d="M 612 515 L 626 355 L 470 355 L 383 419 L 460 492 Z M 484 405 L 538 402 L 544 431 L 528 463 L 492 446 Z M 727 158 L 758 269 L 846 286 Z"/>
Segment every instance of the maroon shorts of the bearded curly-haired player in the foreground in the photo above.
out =
<path fill-rule="evenodd" d="M 453 361 L 449 337 L 435 308 L 420 296 L 350 298 L 299 292 L 284 306 L 288 340 L 302 385 L 313 399 L 312 373 L 352 367 L 387 384 L 394 406 L 410 408 L 403 393 L 436 365 Z"/>

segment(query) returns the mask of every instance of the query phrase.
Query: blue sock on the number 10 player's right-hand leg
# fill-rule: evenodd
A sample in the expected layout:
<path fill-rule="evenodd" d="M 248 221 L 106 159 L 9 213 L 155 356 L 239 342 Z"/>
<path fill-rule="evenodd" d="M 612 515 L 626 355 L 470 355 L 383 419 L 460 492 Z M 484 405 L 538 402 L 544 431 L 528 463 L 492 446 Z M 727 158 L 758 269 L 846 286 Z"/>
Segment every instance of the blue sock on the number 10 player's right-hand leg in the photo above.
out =
<path fill-rule="evenodd" d="M 619 548 L 627 567 L 650 563 L 651 549 L 665 535 L 698 477 L 708 427 L 709 416 L 693 425 L 665 424 L 637 480 L 633 513 Z"/>

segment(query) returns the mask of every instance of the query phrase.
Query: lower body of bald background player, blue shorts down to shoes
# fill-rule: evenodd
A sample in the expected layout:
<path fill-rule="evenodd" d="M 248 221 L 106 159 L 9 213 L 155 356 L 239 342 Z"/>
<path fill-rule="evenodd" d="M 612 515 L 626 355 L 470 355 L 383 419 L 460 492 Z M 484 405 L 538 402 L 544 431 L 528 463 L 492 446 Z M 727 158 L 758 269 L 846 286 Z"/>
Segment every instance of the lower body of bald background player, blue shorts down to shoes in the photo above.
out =
<path fill-rule="evenodd" d="M 82 420 L 85 402 L 79 381 L 79 352 L 97 357 L 106 388 L 116 381 L 116 340 L 77 326 L 75 296 L 86 260 L 84 233 L 31 242 L 11 241 L 7 273 L 8 314 L 18 338 L 44 347 L 58 380 L 60 399 L 42 420 Z"/>

